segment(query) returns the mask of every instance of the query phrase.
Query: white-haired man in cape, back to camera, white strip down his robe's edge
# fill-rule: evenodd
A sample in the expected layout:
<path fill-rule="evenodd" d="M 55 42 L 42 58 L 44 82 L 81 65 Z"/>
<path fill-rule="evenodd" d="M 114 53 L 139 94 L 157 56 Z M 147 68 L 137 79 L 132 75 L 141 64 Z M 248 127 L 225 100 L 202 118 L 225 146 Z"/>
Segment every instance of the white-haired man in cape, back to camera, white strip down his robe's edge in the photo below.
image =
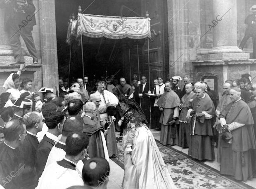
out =
<path fill-rule="evenodd" d="M 103 157 L 109 161 L 104 127 L 94 120 L 96 105 L 93 102 L 85 104 L 85 115 L 83 116 L 85 133 L 89 137 L 88 154 L 90 157 Z"/>

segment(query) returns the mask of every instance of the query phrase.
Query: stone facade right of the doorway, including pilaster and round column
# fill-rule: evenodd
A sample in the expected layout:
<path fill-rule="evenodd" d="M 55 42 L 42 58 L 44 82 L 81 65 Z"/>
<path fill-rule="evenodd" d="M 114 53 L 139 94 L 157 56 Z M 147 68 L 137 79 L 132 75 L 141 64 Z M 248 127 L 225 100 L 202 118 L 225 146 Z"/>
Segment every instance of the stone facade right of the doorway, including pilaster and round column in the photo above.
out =
<path fill-rule="evenodd" d="M 187 74 L 192 82 L 216 76 L 219 95 L 225 80 L 244 73 L 253 78 L 256 61 L 249 59 L 251 39 L 244 51 L 237 46 L 254 4 L 253 0 L 168 0 L 170 76 Z"/>

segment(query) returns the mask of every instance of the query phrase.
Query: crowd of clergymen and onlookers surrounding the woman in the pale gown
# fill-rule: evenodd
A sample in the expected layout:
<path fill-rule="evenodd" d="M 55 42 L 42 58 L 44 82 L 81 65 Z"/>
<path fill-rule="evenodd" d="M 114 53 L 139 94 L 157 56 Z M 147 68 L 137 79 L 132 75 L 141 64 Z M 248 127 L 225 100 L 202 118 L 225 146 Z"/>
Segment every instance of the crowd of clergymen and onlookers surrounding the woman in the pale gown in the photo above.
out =
<path fill-rule="evenodd" d="M 134 75 L 133 85 L 125 78 L 89 83 L 85 76 L 68 87 L 60 78 L 58 97 L 41 88 L 42 101 L 31 92 L 31 79 L 19 82 L 20 74 L 7 78 L 0 95 L 4 188 L 106 188 L 109 157 L 118 156 L 115 130 L 122 135 L 121 94 L 140 104 L 149 127 L 161 130 L 161 144 L 189 148 L 192 158 L 210 161 L 215 145 L 220 174 L 256 176 L 256 85 L 249 74 L 226 81 L 219 100 L 207 83 L 192 84 L 188 76 L 181 90 L 180 76 L 165 83 L 159 76 L 150 89 L 145 76 L 138 81 Z"/>

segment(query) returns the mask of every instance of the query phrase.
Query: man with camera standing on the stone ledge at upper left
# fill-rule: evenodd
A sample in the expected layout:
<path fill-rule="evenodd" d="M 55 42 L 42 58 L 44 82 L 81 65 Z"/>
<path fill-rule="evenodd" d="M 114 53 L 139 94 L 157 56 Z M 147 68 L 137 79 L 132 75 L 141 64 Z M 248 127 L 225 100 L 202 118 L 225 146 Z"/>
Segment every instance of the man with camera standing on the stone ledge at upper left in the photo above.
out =
<path fill-rule="evenodd" d="M 16 64 L 25 62 L 21 51 L 20 36 L 29 54 L 33 57 L 33 63 L 38 64 L 38 55 L 32 36 L 33 26 L 36 25 L 34 16 L 36 7 L 33 5 L 33 0 L 26 0 L 23 5 L 18 5 L 17 1 L 0 0 L 0 7 L 5 9 L 5 31 L 8 33 Z"/>

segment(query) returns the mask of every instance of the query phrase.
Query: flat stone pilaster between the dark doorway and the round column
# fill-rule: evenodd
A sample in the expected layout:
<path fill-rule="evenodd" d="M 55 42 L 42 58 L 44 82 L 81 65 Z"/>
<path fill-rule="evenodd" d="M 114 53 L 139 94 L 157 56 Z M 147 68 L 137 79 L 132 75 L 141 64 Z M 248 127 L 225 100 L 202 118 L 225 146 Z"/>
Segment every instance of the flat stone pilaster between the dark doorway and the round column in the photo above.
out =
<path fill-rule="evenodd" d="M 190 61 L 197 60 L 201 20 L 199 0 L 168 0 L 168 39 L 170 78 L 190 75 Z M 183 86 L 183 83 L 180 83 Z"/>

